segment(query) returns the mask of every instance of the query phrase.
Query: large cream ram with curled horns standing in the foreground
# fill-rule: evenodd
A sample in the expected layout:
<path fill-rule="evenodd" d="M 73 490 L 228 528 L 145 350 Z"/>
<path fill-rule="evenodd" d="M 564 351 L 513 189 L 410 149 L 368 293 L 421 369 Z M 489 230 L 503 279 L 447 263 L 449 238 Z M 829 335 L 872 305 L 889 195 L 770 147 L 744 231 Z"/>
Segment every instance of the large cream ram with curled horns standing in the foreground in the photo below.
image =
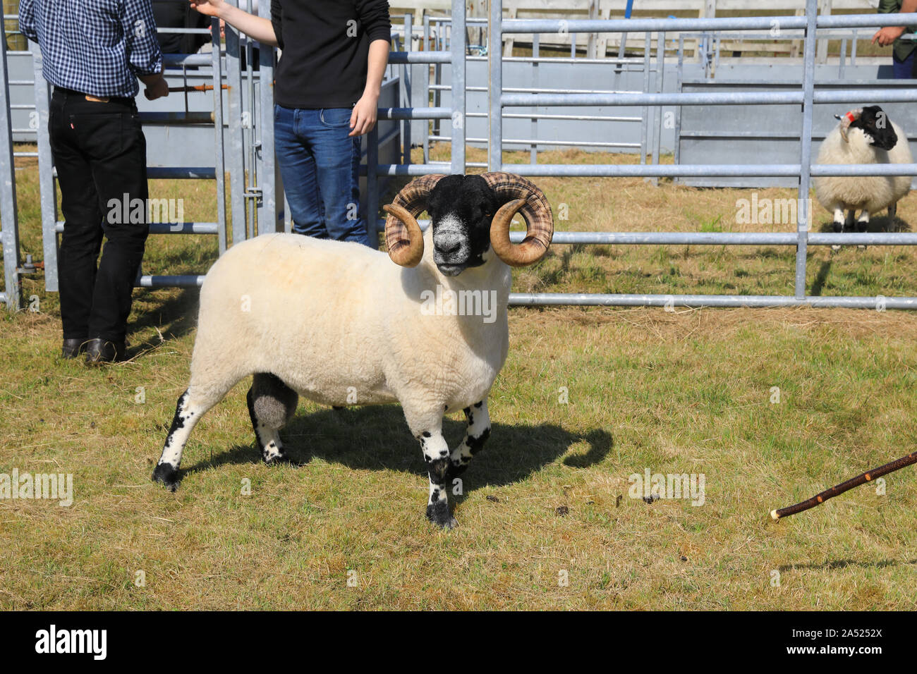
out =
<path fill-rule="evenodd" d="M 429 474 L 426 516 L 455 525 L 447 482 L 490 435 L 487 396 L 509 348 L 510 267 L 545 255 L 553 215 L 532 182 L 504 172 L 424 176 L 384 210 L 388 256 L 268 234 L 215 262 L 201 289 L 191 380 L 153 480 L 177 487 L 194 425 L 254 375 L 249 415 L 267 463 L 286 460 L 278 432 L 299 395 L 330 405 L 401 403 Z M 425 233 L 416 220 L 423 211 L 431 218 Z M 527 232 L 514 244 L 517 213 Z M 480 297 L 481 311 L 461 297 Z M 450 451 L 443 416 L 459 410 L 468 426 Z"/>

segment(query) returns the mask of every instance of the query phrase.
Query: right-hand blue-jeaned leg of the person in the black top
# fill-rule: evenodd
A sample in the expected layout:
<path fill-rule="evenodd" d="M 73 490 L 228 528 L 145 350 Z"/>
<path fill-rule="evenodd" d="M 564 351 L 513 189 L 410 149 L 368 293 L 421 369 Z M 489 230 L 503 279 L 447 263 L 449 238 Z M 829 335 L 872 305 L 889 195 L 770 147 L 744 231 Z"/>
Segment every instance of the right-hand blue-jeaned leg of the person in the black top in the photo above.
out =
<path fill-rule="evenodd" d="M 318 192 L 325 206 L 328 235 L 370 246 L 366 221 L 359 212 L 359 138 L 350 138 L 350 108 L 312 111 L 303 135 L 315 156 Z"/>

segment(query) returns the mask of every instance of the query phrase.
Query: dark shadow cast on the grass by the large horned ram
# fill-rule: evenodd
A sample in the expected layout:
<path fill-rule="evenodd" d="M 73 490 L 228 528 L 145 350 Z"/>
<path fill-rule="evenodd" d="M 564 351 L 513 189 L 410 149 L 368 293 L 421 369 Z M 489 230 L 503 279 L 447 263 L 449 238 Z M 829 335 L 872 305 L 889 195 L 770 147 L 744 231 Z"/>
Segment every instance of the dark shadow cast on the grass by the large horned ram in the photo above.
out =
<path fill-rule="evenodd" d="M 465 424 L 447 418 L 443 432 L 449 447 L 456 447 L 465 432 Z M 353 469 L 400 470 L 426 476 L 420 446 L 405 425 L 398 405 L 326 409 L 315 414 L 301 411 L 281 431 L 281 438 L 295 464 L 319 458 Z M 487 444 L 462 475 L 464 491 L 523 480 L 580 444 L 582 447 L 577 449 L 582 451 L 571 453 L 564 459 L 564 465 L 585 468 L 598 463 L 611 451 L 613 437 L 601 429 L 580 435 L 553 424 L 493 424 Z M 259 461 L 252 434 L 246 444 L 226 450 L 214 447 L 212 458 L 182 470 L 182 478 L 226 463 Z"/>

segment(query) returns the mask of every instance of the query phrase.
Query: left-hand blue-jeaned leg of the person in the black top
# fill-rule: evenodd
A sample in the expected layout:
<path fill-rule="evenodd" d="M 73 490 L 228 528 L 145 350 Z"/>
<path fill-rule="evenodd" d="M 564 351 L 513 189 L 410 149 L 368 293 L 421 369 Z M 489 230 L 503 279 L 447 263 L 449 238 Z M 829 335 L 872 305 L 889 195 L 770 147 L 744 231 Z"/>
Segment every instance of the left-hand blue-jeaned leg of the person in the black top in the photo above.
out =
<path fill-rule="evenodd" d="M 328 238 L 322 216 L 321 197 L 315 179 L 315 157 L 299 133 L 297 121 L 315 110 L 274 105 L 274 151 L 290 204 L 293 231 L 315 238 Z"/>

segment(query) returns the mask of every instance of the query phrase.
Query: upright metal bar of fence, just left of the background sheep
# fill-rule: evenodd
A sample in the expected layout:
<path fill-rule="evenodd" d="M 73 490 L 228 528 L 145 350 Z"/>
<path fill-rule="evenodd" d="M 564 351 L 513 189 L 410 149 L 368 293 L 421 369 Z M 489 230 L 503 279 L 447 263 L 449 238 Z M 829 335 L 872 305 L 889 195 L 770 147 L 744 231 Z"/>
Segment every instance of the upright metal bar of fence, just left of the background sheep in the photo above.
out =
<path fill-rule="evenodd" d="M 802 56 L 804 70 L 802 72 L 802 129 L 801 129 L 801 160 L 800 160 L 800 186 L 799 209 L 797 212 L 797 236 L 799 242 L 796 246 L 796 281 L 794 283 L 796 298 L 805 297 L 806 287 L 806 258 L 808 256 L 807 238 L 809 223 L 811 222 L 809 210 L 810 173 L 812 170 L 812 101 L 815 95 L 815 18 L 818 15 L 818 0 L 806 0 L 806 19 L 808 26 L 803 40 Z"/>

